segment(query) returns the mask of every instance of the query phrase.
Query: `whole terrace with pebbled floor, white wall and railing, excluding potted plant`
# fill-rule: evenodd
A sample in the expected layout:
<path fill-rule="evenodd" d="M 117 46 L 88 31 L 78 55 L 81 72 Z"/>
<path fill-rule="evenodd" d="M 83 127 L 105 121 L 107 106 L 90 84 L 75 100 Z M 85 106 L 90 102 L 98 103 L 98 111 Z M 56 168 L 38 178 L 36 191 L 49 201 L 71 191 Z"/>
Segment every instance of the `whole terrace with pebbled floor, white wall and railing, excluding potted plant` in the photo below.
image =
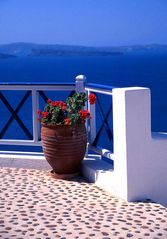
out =
<path fill-rule="evenodd" d="M 0 238 L 167 238 L 167 209 L 160 205 L 167 205 L 167 137 L 151 133 L 149 89 L 86 84 L 78 76 L 75 84 L 1 84 L 0 90 L 11 114 L 0 129 Z M 87 154 L 82 177 L 55 180 L 38 150 L 36 111 L 51 91 L 62 97 L 74 90 L 97 94 L 96 106 L 87 106 Z M 15 125 L 15 135 L 8 133 L 13 120 L 24 137 Z"/>

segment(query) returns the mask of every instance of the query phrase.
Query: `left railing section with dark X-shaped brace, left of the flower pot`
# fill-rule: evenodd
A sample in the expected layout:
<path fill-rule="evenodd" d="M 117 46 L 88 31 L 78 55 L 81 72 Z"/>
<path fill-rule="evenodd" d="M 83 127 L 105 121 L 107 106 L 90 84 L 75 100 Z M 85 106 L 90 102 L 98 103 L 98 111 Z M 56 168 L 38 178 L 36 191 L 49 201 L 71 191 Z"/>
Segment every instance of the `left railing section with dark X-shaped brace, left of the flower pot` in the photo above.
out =
<path fill-rule="evenodd" d="M 74 83 L 56 83 L 56 84 L 48 84 L 48 83 L 12 83 L 12 84 L 0 84 L 0 101 L 3 103 L 4 107 L 8 109 L 10 112 L 10 118 L 6 121 L 5 126 L 0 131 L 0 144 L 4 145 L 31 145 L 31 146 L 40 146 L 40 124 L 38 122 L 38 116 L 37 116 L 37 110 L 39 109 L 39 97 L 41 96 L 44 101 L 47 100 L 46 93 L 47 91 L 75 91 L 75 84 Z M 5 96 L 5 91 L 25 91 L 25 94 L 23 95 L 22 99 L 20 99 L 20 102 L 18 106 L 15 108 L 14 105 L 12 105 L 7 97 Z M 9 93 L 11 94 L 11 93 Z M 14 99 L 15 95 L 13 95 Z M 25 104 L 26 100 L 28 98 L 31 98 L 32 101 L 32 124 L 33 124 L 33 132 L 29 131 L 29 129 L 26 127 L 24 122 L 22 121 L 21 117 L 18 115 L 19 111 L 21 110 L 21 107 Z M 14 101 L 15 103 L 15 101 Z M 2 116 L 1 116 L 2 117 Z M 9 128 L 10 124 L 13 120 L 16 120 L 19 124 L 20 128 L 24 131 L 24 133 L 29 138 L 28 140 L 18 140 L 18 139 L 3 139 L 2 136 Z"/>

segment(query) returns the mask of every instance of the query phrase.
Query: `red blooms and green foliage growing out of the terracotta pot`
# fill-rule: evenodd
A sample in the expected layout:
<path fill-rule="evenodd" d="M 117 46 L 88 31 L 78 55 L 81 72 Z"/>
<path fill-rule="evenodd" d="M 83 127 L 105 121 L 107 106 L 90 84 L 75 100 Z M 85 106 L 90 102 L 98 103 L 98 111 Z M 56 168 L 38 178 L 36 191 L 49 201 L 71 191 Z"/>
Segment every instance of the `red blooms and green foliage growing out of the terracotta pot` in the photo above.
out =
<path fill-rule="evenodd" d="M 44 110 L 37 111 L 38 121 L 57 125 L 84 124 L 86 119 L 91 119 L 89 111 L 84 110 L 87 100 L 88 97 L 84 92 L 75 93 L 68 97 L 66 101 L 52 101 L 48 98 Z M 93 104 L 95 100 L 96 96 L 90 94 L 90 103 Z"/>

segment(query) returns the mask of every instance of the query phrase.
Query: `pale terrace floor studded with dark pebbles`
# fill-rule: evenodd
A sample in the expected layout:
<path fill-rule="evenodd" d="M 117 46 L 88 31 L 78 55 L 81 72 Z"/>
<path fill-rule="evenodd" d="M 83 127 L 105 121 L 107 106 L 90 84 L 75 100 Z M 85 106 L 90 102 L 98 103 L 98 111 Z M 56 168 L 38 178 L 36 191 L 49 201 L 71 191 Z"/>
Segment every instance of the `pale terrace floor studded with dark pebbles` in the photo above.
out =
<path fill-rule="evenodd" d="M 0 238 L 167 238 L 167 208 L 126 203 L 82 178 L 0 168 Z"/>

